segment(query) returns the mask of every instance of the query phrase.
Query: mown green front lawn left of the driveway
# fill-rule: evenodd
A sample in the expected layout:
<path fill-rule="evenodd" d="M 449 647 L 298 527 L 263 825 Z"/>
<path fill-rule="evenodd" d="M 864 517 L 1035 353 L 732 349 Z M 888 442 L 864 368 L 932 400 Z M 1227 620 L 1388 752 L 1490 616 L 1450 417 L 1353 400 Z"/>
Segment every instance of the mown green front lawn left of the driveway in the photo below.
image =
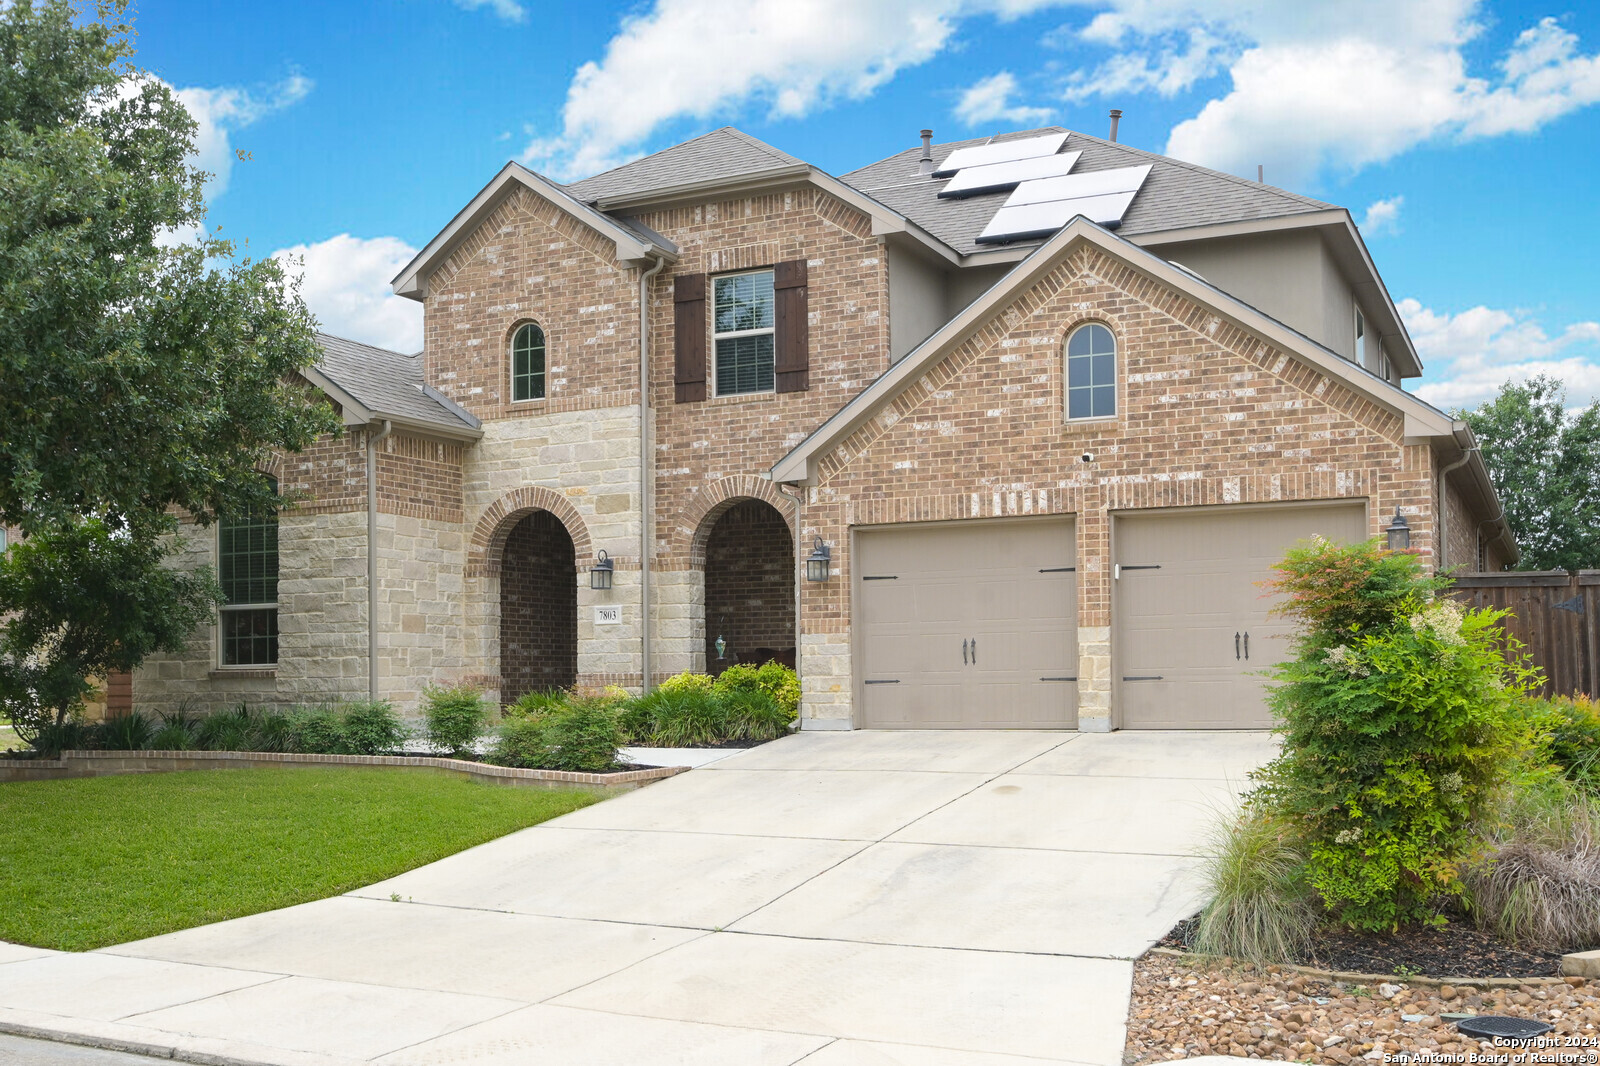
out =
<path fill-rule="evenodd" d="M 322 900 L 597 799 L 379 768 L 0 784 L 0 940 L 88 951 Z"/>

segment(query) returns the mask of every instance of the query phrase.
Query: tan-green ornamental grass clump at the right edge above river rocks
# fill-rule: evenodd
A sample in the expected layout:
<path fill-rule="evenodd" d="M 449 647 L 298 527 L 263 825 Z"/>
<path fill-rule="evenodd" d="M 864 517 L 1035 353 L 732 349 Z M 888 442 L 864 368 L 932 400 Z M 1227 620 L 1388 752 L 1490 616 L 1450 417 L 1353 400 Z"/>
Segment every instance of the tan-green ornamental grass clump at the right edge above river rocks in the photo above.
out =
<path fill-rule="evenodd" d="M 1558 771 L 1523 773 L 1486 836 L 1493 852 L 1464 874 L 1480 927 L 1542 951 L 1600 944 L 1600 800 Z"/>

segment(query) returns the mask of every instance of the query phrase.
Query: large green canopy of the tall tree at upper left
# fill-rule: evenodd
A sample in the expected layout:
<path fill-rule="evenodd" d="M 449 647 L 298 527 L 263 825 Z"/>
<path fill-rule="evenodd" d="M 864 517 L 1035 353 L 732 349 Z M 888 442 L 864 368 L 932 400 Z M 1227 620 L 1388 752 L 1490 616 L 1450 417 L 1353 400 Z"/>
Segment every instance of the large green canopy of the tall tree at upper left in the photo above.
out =
<path fill-rule="evenodd" d="M 336 429 L 294 283 L 203 234 L 195 123 L 125 11 L 0 8 L 0 522 L 29 535 L 274 506 L 254 471 Z"/>

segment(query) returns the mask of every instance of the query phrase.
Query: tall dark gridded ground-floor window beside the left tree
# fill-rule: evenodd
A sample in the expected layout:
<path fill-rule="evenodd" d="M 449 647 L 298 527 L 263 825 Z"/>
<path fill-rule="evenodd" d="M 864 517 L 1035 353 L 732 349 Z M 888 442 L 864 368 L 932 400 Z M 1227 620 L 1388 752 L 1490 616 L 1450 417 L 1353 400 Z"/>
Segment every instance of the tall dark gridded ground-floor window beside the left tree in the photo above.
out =
<path fill-rule="evenodd" d="M 277 480 L 269 479 L 272 491 Z M 278 661 L 278 515 L 259 514 L 218 523 L 218 578 L 222 666 Z"/>

